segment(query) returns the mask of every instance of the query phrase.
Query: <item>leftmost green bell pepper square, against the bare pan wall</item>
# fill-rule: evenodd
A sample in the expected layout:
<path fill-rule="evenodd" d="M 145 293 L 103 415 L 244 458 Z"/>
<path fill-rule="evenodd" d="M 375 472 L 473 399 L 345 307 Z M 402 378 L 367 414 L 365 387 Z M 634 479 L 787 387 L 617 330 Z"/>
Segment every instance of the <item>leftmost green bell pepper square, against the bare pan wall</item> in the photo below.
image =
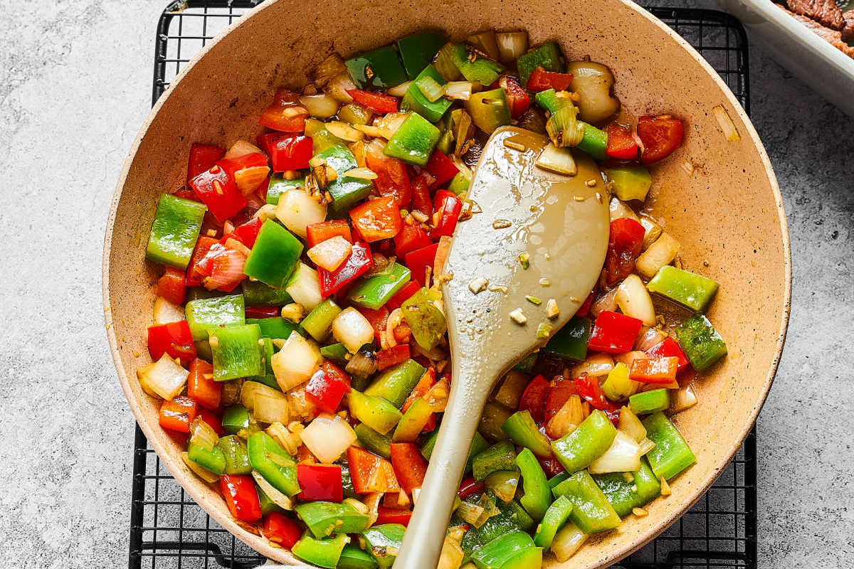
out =
<path fill-rule="evenodd" d="M 145 258 L 186 269 L 207 209 L 198 201 L 184 200 L 171 194 L 161 195 L 155 221 L 151 224 L 149 244 L 145 247 Z"/>

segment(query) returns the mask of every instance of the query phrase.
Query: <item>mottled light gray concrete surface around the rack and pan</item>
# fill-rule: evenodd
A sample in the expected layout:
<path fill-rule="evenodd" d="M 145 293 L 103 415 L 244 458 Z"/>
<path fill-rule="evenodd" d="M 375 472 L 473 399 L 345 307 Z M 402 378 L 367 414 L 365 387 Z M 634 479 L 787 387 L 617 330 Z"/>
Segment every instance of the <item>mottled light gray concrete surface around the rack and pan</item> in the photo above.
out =
<path fill-rule="evenodd" d="M 0 0 L 0 559 L 126 566 L 133 420 L 105 341 L 110 195 L 165 0 Z M 753 120 L 794 257 L 759 417 L 759 566 L 854 566 L 854 120 L 752 45 Z"/>

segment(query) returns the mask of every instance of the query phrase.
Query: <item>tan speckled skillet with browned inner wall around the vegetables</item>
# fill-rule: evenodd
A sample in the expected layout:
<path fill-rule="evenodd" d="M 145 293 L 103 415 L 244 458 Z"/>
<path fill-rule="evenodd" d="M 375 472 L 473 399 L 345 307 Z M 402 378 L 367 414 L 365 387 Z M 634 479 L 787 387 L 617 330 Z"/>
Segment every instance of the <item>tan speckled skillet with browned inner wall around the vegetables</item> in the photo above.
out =
<path fill-rule="evenodd" d="M 656 217 L 681 241 L 688 269 L 721 283 L 710 318 L 729 355 L 697 386 L 699 405 L 676 415 L 698 463 L 652 502 L 645 518 L 591 540 L 572 560 L 546 566 L 605 566 L 673 523 L 721 473 L 750 430 L 780 357 L 788 319 L 791 263 L 786 218 L 768 157 L 717 74 L 681 38 L 621 0 L 280 0 L 254 9 L 185 67 L 152 110 L 121 173 L 104 242 L 103 296 L 108 338 L 121 385 L 151 445 L 190 496 L 261 554 L 303 565 L 238 525 L 225 502 L 184 467 L 180 449 L 157 423 L 158 403 L 136 369 L 149 363 L 145 329 L 161 270 L 144 250 L 155 203 L 184 183 L 191 142 L 228 146 L 253 140 L 258 116 L 280 85 L 299 87 L 332 49 L 348 55 L 424 28 L 456 38 L 495 28 L 526 29 L 531 44 L 556 38 L 571 59 L 589 55 L 617 78 L 616 93 L 635 115 L 678 113 L 681 150 L 652 168 Z M 727 142 L 711 108 L 728 110 L 741 135 Z M 695 166 L 692 174 L 683 159 Z M 705 266 L 705 262 L 708 266 Z"/>

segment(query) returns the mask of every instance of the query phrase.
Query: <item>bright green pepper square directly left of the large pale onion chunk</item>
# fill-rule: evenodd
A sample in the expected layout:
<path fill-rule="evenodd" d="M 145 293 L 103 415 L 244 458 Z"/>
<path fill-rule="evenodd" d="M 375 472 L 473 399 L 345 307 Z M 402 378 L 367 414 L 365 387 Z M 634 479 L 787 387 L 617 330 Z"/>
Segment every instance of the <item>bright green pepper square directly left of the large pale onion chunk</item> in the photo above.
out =
<path fill-rule="evenodd" d="M 213 351 L 213 380 L 236 380 L 264 374 L 258 324 L 212 328 L 209 334 Z"/>

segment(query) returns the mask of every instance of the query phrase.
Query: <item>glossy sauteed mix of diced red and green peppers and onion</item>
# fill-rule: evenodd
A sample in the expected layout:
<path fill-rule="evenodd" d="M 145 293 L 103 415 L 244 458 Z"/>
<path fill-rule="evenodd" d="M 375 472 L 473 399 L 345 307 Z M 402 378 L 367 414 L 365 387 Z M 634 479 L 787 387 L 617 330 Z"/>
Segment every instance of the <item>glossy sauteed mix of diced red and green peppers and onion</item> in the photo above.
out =
<path fill-rule="evenodd" d="M 193 144 L 155 212 L 146 256 L 164 271 L 137 373 L 187 467 L 302 560 L 392 566 L 450 386 L 442 265 L 479 212 L 479 148 L 521 125 L 551 139 L 542 168 L 599 162 L 610 242 L 581 310 L 530 327 L 547 345 L 483 410 L 440 566 L 539 567 L 646 515 L 695 462 L 670 417 L 727 351 L 705 316 L 717 282 L 643 210 L 681 119 L 633 119 L 610 69 L 525 32 L 418 33 L 309 78 L 271 93 L 254 142 Z M 529 301 L 558 316 L 541 284 Z"/>

